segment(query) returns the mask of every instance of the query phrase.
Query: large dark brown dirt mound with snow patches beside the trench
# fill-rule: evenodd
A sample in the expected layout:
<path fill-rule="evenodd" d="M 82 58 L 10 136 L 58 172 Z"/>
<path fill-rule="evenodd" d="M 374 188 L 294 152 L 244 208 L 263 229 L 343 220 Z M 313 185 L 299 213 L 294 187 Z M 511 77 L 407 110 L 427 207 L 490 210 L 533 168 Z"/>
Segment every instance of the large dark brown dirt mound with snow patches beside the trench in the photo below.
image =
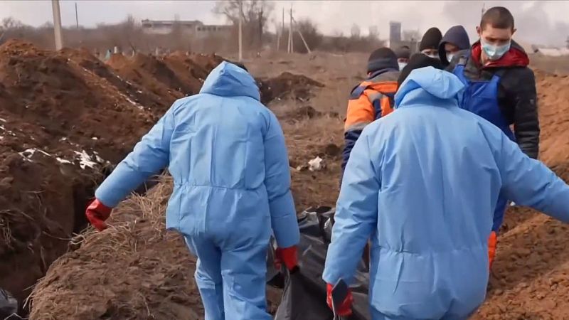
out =
<path fill-rule="evenodd" d="M 0 46 L 0 287 L 20 302 L 85 225 L 102 167 L 154 120 L 68 55 Z"/>

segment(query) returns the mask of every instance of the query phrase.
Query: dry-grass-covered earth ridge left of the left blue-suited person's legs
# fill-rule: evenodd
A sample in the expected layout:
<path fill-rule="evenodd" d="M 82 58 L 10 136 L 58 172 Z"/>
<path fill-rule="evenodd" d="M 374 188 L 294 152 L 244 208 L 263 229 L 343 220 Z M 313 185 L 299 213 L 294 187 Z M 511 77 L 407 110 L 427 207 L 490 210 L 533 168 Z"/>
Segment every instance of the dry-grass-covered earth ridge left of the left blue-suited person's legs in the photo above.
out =
<path fill-rule="evenodd" d="M 83 234 L 34 289 L 30 319 L 203 319 L 196 261 L 165 230 L 170 193 L 171 181 L 160 183 L 124 201 L 105 232 Z"/>

